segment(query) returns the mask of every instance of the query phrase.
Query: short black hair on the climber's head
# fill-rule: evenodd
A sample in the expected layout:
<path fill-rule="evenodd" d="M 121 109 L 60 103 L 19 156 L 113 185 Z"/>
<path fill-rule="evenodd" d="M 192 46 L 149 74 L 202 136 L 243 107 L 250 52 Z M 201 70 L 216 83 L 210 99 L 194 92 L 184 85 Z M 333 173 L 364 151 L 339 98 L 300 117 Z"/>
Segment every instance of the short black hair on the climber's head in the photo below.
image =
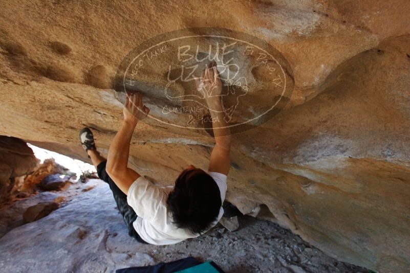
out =
<path fill-rule="evenodd" d="M 172 222 L 192 234 L 205 233 L 222 206 L 215 180 L 201 169 L 184 170 L 166 201 Z"/>

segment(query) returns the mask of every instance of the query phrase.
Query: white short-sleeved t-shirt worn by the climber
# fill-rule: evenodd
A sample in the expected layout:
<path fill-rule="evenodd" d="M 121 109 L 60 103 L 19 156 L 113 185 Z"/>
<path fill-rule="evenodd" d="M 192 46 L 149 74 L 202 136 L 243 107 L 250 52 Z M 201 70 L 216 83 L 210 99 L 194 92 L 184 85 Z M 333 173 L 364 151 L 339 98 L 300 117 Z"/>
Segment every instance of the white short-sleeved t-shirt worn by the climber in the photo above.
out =
<path fill-rule="evenodd" d="M 222 202 L 225 200 L 227 176 L 218 172 L 208 172 L 215 180 L 221 192 Z M 198 237 L 199 234 L 189 234 L 184 229 L 172 223 L 166 208 L 168 194 L 174 187 L 158 187 L 143 176 L 138 177 L 128 189 L 127 202 L 137 214 L 133 226 L 141 238 L 150 244 L 165 245 L 179 243 L 188 238 Z M 221 206 L 217 220 L 222 218 L 224 210 Z"/>

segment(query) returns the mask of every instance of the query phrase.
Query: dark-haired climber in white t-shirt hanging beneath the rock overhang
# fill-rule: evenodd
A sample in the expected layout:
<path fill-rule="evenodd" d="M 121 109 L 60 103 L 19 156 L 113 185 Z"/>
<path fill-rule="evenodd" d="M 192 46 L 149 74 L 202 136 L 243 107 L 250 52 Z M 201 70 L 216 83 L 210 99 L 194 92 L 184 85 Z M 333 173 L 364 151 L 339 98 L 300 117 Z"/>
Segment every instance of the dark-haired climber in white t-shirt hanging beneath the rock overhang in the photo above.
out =
<path fill-rule="evenodd" d="M 196 81 L 199 90 L 206 88 L 208 93 L 204 94 L 212 94 L 206 96 L 206 102 L 209 108 L 216 109 L 210 111 L 215 145 L 208 170 L 189 165 L 176 178 L 174 186 L 158 187 L 127 167 L 134 129 L 149 113 L 140 93 L 126 95 L 124 120 L 107 159 L 97 151 L 92 131 L 89 128 L 80 131 L 81 144 L 98 177 L 109 184 L 128 235 L 141 243 L 165 245 L 198 237 L 216 225 L 224 214 L 231 136 L 221 115 L 222 83 L 216 64 L 206 66 Z"/>

